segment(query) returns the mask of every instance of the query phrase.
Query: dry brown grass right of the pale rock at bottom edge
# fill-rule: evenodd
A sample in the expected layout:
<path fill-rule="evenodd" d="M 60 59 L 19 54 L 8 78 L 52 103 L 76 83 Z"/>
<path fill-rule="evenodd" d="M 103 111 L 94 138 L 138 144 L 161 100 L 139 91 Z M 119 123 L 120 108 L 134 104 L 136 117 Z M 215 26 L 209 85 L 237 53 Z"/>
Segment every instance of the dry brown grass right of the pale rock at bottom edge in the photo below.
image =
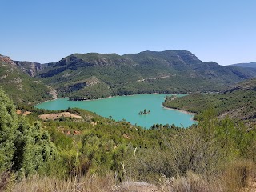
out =
<path fill-rule="evenodd" d="M 162 191 L 171 192 L 256 192 L 255 164 L 236 161 L 226 165 L 222 172 L 200 175 L 189 171 L 185 176 L 162 177 Z"/>

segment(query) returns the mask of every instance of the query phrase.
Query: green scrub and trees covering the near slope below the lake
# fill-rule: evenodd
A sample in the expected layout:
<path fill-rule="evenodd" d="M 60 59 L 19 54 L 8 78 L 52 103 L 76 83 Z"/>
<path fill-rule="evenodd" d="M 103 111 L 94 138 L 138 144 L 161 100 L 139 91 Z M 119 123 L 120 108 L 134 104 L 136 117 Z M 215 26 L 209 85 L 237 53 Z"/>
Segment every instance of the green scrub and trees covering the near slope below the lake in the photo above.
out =
<path fill-rule="evenodd" d="M 255 127 L 248 130 L 242 122 L 218 120 L 214 110 L 204 112 L 198 126 L 188 129 L 153 125 L 145 130 L 79 109 L 67 111 L 82 118 L 42 121 L 38 115 L 50 111 L 27 106 L 32 114 L 18 117 L 2 90 L 0 98 L 0 170 L 6 178 L 2 189 L 18 185 L 13 178 L 26 179 L 37 173 L 59 178 L 62 185 L 70 178 L 84 181 L 97 174 L 112 175 L 112 184 L 146 181 L 174 191 L 183 191 L 187 185 L 194 191 L 216 191 L 211 184 L 217 182 L 219 191 L 234 191 L 247 186 L 254 173 Z M 167 182 L 168 178 L 176 184 Z M 72 190 L 81 190 L 82 185 L 76 182 Z M 98 191 L 97 187 L 90 191 Z"/>

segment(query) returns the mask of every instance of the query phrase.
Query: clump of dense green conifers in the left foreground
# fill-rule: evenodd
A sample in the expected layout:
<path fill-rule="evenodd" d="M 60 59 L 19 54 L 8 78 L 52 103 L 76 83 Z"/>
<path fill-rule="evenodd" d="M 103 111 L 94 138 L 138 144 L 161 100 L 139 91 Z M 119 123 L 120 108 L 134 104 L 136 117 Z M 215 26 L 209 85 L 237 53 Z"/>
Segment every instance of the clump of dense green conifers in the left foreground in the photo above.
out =
<path fill-rule="evenodd" d="M 54 158 L 54 144 L 40 122 L 18 118 L 13 103 L 0 90 L 0 171 L 20 175 L 45 173 Z"/>

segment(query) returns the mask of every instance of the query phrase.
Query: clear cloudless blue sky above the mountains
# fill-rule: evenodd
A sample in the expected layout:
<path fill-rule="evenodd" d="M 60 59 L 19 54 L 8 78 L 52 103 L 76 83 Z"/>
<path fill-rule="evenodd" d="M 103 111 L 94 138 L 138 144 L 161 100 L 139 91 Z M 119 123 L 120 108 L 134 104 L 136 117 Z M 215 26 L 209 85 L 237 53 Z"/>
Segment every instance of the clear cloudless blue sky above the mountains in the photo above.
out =
<path fill-rule="evenodd" d="M 0 18 L 0 54 L 14 60 L 190 50 L 204 62 L 256 62 L 255 0 L 0 0 Z"/>

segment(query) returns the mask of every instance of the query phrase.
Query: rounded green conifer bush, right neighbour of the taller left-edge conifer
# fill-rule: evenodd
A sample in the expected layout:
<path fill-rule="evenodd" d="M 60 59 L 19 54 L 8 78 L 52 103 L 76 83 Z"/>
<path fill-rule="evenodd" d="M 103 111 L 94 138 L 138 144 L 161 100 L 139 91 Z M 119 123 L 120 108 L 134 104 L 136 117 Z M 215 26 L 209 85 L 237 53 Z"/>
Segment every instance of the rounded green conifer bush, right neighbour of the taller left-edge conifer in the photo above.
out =
<path fill-rule="evenodd" d="M 56 149 L 50 135 L 42 130 L 40 122 L 30 126 L 25 118 L 19 122 L 15 141 L 14 170 L 28 176 L 36 171 L 45 174 Z"/>

